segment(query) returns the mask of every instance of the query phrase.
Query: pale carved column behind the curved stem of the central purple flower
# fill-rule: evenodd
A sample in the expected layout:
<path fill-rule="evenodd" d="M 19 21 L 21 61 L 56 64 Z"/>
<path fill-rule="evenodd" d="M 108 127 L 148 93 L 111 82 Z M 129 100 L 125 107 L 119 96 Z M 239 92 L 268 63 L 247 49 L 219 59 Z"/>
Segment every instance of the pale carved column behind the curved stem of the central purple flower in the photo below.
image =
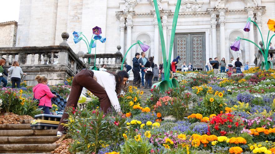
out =
<path fill-rule="evenodd" d="M 132 27 L 133 27 L 132 16 L 128 15 L 126 20 L 127 20 L 127 23 L 126 23 L 126 26 L 127 26 L 127 49 L 125 49 L 125 52 L 127 52 L 127 50 L 132 45 L 131 43 L 132 43 Z M 131 50 L 128 52 L 126 58 L 127 58 L 128 65 L 131 65 L 132 58 L 133 58 Z"/>

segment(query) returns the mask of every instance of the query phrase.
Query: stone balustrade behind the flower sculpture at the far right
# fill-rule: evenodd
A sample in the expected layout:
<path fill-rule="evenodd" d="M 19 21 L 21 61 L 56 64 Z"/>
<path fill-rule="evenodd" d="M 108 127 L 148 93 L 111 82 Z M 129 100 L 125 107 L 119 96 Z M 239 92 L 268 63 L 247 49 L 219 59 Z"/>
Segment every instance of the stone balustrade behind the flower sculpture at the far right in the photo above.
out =
<path fill-rule="evenodd" d="M 263 44 L 262 41 L 259 42 L 262 51 L 264 52 L 264 48 L 263 48 Z M 270 60 L 270 54 L 273 55 L 273 60 Z M 273 68 L 275 66 L 275 49 L 269 49 L 268 50 L 268 57 L 269 57 L 269 61 L 271 61 L 273 63 Z M 262 55 L 261 50 L 258 50 L 258 53 L 255 54 L 255 59 L 254 59 L 254 64 L 256 67 L 260 67 L 262 65 L 262 61 L 264 61 L 264 56 Z"/>

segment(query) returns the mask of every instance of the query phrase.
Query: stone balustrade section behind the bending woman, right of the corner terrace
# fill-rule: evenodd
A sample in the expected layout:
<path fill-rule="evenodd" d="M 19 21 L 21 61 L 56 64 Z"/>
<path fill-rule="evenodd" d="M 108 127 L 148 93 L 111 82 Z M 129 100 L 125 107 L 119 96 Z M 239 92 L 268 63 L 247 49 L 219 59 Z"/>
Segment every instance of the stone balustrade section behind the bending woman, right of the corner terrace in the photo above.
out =
<path fill-rule="evenodd" d="M 121 47 L 117 47 L 118 52 L 115 54 L 96 54 L 96 67 L 101 68 L 102 64 L 106 64 L 107 70 L 111 72 L 117 72 L 121 68 L 121 63 L 123 61 L 123 55 L 120 53 Z M 94 66 L 94 54 L 84 54 L 84 56 L 80 56 L 80 59 L 82 59 L 83 63 L 87 66 L 87 68 Z M 82 58 L 81 58 L 82 57 Z M 90 59 L 90 61 L 89 61 Z M 126 63 L 126 60 L 124 61 L 124 64 Z"/>

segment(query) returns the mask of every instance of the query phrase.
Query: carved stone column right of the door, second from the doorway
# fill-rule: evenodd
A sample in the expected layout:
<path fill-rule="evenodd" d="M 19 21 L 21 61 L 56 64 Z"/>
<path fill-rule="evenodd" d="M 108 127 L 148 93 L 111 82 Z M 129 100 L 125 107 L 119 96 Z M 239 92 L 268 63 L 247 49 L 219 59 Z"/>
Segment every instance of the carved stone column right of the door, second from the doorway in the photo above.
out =
<path fill-rule="evenodd" d="M 220 59 L 225 58 L 225 11 L 226 10 L 219 10 L 220 12 L 220 19 L 219 19 L 219 24 L 220 24 Z M 215 57 L 214 57 L 215 58 Z"/>

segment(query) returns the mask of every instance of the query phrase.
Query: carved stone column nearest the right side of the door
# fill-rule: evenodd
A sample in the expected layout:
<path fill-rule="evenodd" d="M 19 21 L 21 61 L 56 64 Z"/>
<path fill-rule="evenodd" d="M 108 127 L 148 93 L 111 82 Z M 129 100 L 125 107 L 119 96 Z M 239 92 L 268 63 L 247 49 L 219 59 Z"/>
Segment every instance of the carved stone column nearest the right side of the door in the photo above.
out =
<path fill-rule="evenodd" d="M 217 21 L 216 21 L 216 14 L 211 14 L 211 28 L 212 28 L 212 58 L 217 57 Z M 207 61 L 208 59 L 206 59 Z"/>

